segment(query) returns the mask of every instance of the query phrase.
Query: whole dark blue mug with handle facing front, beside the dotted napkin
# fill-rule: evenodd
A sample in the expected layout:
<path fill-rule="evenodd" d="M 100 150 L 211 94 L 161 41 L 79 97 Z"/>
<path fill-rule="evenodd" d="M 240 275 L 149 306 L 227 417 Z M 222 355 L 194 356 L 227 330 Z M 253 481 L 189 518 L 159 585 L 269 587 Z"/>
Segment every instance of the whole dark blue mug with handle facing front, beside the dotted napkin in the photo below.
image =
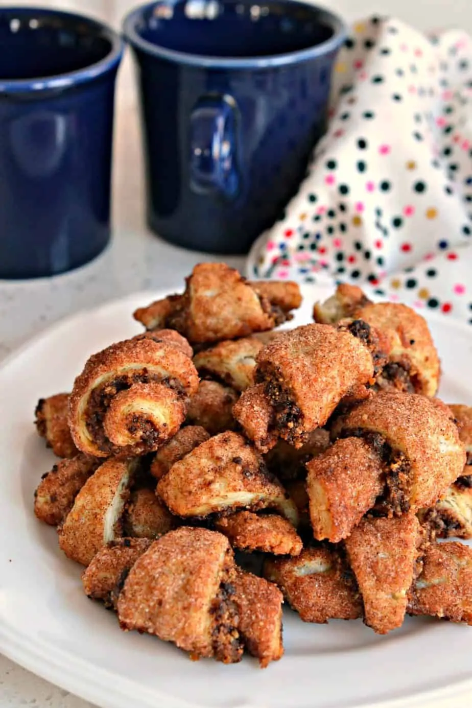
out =
<path fill-rule="evenodd" d="M 326 130 L 337 16 L 294 0 L 162 0 L 124 22 L 137 59 L 149 226 L 245 253 Z"/>

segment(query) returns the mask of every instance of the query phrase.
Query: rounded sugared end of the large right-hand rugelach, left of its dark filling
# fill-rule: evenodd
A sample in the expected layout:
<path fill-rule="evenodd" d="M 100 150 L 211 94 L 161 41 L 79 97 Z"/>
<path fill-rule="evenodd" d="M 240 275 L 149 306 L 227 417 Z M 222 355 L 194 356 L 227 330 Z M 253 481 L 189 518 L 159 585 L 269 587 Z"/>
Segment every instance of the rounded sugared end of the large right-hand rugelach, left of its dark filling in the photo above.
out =
<path fill-rule="evenodd" d="M 359 438 L 338 440 L 306 464 L 313 535 L 337 543 L 371 509 L 384 484 L 378 455 Z"/>

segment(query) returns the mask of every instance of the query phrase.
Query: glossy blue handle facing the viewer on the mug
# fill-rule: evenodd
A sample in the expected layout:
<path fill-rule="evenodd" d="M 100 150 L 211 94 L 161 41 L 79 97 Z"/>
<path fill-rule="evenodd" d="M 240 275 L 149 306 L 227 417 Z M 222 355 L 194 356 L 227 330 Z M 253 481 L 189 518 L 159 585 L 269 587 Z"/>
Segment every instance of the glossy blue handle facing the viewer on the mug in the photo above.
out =
<path fill-rule="evenodd" d="M 190 188 L 197 194 L 236 197 L 237 107 L 231 96 L 202 96 L 190 115 Z"/>

